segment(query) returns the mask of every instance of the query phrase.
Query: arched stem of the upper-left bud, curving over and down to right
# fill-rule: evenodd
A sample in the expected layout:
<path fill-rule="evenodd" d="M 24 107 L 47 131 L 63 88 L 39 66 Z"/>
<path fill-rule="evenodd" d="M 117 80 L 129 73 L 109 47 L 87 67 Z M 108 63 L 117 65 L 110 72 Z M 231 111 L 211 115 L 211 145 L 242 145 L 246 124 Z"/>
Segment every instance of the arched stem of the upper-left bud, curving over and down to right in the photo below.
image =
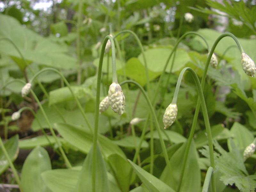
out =
<path fill-rule="evenodd" d="M 58 71 L 57 69 L 54 69 L 54 68 L 44 68 L 44 69 L 42 69 L 41 71 L 38 71 L 38 72 L 36 73 L 36 75 L 34 75 L 34 76 L 31 78 L 31 80 L 30 80 L 29 82 L 32 84 L 32 83 L 33 83 L 33 80 L 34 80 L 37 76 L 39 76 L 41 73 L 43 73 L 44 71 L 54 71 L 54 72 L 56 72 L 56 73 L 58 73 L 58 74 L 60 75 L 60 77 L 61 77 L 61 78 L 63 79 L 63 81 L 65 82 L 65 84 L 68 86 L 68 89 L 70 90 L 71 94 L 73 95 L 73 97 L 74 97 L 74 99 L 75 99 L 75 101 L 76 101 L 76 104 L 77 104 L 78 108 L 80 109 L 80 111 L 81 111 L 81 113 L 82 113 L 82 116 L 84 117 L 84 120 L 85 120 L 85 122 L 86 122 L 88 128 L 89 128 L 89 129 L 91 130 L 91 132 L 92 132 L 92 126 L 91 126 L 91 124 L 89 123 L 89 121 L 88 121 L 88 119 L 87 119 L 87 117 L 86 117 L 86 115 L 85 115 L 85 113 L 84 113 L 84 110 L 83 110 L 83 108 L 82 108 L 80 102 L 78 101 L 78 99 L 76 98 L 75 93 L 74 93 L 73 90 L 71 89 L 71 86 L 70 86 L 70 84 L 68 83 L 68 80 L 60 73 L 60 71 Z"/>

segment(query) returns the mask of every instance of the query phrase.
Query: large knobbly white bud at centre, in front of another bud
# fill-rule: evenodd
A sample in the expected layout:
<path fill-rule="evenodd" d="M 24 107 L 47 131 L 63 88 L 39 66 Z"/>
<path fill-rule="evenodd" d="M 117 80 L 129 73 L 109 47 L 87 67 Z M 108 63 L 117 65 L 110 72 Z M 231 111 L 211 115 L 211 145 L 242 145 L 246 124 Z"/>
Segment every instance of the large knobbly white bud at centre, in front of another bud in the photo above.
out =
<path fill-rule="evenodd" d="M 125 99 L 121 86 L 118 83 L 112 83 L 108 90 L 108 100 L 112 110 L 119 115 L 124 113 Z"/>

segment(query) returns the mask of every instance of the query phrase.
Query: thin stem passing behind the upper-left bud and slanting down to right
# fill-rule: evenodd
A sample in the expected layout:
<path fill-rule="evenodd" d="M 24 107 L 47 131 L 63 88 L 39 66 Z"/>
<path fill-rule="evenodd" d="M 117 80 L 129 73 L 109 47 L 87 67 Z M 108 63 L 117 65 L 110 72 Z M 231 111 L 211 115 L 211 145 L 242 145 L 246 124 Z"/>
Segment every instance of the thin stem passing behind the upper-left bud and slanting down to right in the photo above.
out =
<path fill-rule="evenodd" d="M 11 83 L 13 83 L 13 82 L 15 82 L 15 81 L 16 81 L 16 82 L 20 82 L 20 83 L 23 84 L 23 85 L 26 84 L 26 83 L 25 83 L 24 81 L 22 81 L 21 79 L 14 79 L 14 80 L 8 82 L 7 84 L 11 84 Z M 7 84 L 5 84 L 4 87 L 6 87 Z M 30 92 L 32 93 L 33 97 L 35 98 L 35 100 L 36 100 L 36 102 L 37 102 L 37 104 L 38 104 L 38 106 L 39 106 L 39 108 L 40 108 L 41 111 L 42 111 L 42 114 L 43 114 L 43 116 L 44 116 L 44 118 L 45 118 L 45 121 L 46 121 L 46 123 L 48 124 L 49 129 L 50 129 L 50 131 L 51 131 L 51 133 L 52 133 L 52 136 L 54 137 L 54 139 L 55 139 L 55 141 L 56 141 L 56 143 L 57 143 L 57 145 L 58 145 L 58 147 L 59 147 L 59 149 L 60 149 L 60 153 L 61 153 L 61 155 L 62 155 L 62 157 L 63 157 L 63 159 L 64 159 L 64 161 L 65 161 L 65 164 L 67 165 L 68 168 L 72 168 L 70 162 L 68 161 L 68 158 L 67 158 L 66 154 L 64 153 L 64 151 L 63 151 L 63 149 L 62 149 L 62 147 L 61 147 L 60 141 L 57 139 L 57 136 L 56 136 L 55 132 L 53 131 L 52 125 L 51 125 L 51 123 L 50 123 L 50 121 L 49 121 L 49 119 L 48 119 L 48 117 L 47 117 L 47 115 L 46 115 L 46 113 L 45 113 L 45 111 L 44 111 L 43 106 L 41 105 L 41 103 L 40 103 L 39 99 L 37 98 L 35 92 L 34 92 L 32 89 L 30 90 Z"/>

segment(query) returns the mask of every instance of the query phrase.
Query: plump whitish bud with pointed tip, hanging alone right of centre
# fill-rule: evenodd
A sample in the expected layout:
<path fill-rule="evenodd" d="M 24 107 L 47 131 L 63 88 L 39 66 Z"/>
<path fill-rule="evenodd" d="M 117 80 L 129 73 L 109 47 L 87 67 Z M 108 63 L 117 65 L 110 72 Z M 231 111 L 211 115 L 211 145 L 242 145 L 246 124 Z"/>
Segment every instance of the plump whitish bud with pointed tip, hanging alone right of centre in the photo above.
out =
<path fill-rule="evenodd" d="M 163 116 L 164 129 L 166 129 L 167 127 L 169 127 L 173 124 L 173 122 L 176 119 L 177 112 L 178 112 L 178 108 L 177 108 L 176 103 L 175 104 L 171 103 L 165 109 L 164 116 Z"/>

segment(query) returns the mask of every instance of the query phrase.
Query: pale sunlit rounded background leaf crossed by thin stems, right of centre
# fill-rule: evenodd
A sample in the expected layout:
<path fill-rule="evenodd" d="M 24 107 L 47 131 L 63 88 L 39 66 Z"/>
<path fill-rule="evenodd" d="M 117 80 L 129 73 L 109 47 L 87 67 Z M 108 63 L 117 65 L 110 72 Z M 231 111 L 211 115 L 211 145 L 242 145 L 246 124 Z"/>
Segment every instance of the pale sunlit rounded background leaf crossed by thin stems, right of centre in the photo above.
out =
<path fill-rule="evenodd" d="M 164 69 L 164 65 L 167 61 L 168 56 L 172 52 L 172 49 L 167 48 L 154 48 L 149 49 L 145 52 L 145 56 L 147 58 L 148 69 L 153 72 L 162 72 Z M 138 57 L 140 62 L 144 65 L 142 54 Z M 188 53 L 184 49 L 177 49 L 174 66 L 172 68 L 172 72 L 179 71 L 183 68 L 186 63 L 190 61 Z M 166 68 L 166 72 L 170 71 L 172 59 L 169 61 L 168 66 Z"/>

